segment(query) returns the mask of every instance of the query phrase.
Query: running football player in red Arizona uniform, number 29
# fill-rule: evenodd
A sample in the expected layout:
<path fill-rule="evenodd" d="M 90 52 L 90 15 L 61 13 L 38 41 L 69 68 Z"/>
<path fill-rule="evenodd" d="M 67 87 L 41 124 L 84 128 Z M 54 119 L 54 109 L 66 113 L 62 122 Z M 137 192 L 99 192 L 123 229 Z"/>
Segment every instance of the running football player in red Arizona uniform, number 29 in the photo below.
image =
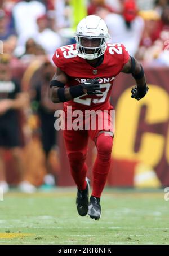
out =
<path fill-rule="evenodd" d="M 77 25 L 76 44 L 60 47 L 53 61 L 57 67 L 50 83 L 52 102 L 64 102 L 65 113 L 72 110 L 107 110 L 111 120 L 109 97 L 115 77 L 130 73 L 136 80 L 131 97 L 138 101 L 148 92 L 143 67 L 131 57 L 122 44 L 106 44 L 109 38 L 105 22 L 95 15 L 87 16 Z M 96 118 L 98 121 L 99 118 Z M 90 119 L 91 122 L 91 119 Z M 100 197 L 110 169 L 113 130 L 108 127 L 95 129 L 65 129 L 63 131 L 70 169 L 77 185 L 77 210 L 95 220 L 101 217 Z M 85 163 L 88 138 L 97 148 L 92 175 L 92 194 L 88 200 L 89 184 Z"/>

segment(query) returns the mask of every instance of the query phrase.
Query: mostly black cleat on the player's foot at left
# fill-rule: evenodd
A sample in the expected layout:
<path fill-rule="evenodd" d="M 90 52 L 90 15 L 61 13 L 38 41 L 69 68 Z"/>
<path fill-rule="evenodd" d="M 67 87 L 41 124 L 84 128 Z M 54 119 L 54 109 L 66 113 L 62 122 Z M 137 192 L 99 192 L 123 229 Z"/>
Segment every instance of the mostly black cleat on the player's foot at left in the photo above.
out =
<path fill-rule="evenodd" d="M 77 190 L 76 206 L 78 214 L 86 216 L 88 212 L 88 193 L 90 189 L 90 180 L 86 178 L 87 186 L 85 190 Z"/>

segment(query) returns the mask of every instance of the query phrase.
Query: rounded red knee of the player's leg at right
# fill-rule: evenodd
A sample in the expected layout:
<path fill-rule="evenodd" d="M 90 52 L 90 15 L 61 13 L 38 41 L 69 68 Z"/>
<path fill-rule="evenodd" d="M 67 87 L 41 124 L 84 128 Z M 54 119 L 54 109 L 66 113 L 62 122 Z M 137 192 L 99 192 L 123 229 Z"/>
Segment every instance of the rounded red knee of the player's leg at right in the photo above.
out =
<path fill-rule="evenodd" d="M 113 137 L 105 133 L 99 134 L 96 146 L 99 154 L 107 157 L 110 156 L 112 153 Z"/>

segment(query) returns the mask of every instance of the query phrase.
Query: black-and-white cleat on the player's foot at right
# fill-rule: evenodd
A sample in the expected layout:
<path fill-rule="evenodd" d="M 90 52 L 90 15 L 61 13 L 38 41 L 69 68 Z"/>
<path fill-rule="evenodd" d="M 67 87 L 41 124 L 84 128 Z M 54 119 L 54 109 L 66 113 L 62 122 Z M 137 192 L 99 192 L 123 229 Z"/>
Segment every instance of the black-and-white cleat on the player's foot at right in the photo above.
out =
<path fill-rule="evenodd" d="M 88 206 L 88 215 L 90 218 L 99 220 L 101 218 L 101 206 L 99 197 L 90 197 L 90 203 Z"/>

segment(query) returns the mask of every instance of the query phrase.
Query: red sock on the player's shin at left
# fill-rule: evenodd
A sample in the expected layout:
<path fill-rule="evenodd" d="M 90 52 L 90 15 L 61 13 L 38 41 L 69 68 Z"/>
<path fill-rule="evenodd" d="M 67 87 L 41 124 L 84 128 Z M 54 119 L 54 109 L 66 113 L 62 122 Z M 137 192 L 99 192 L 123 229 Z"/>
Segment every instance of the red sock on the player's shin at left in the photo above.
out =
<path fill-rule="evenodd" d="M 81 152 L 74 152 L 68 155 L 70 162 L 70 171 L 78 189 L 86 189 L 86 172 L 87 165 L 84 163 L 86 155 L 83 156 Z"/>

